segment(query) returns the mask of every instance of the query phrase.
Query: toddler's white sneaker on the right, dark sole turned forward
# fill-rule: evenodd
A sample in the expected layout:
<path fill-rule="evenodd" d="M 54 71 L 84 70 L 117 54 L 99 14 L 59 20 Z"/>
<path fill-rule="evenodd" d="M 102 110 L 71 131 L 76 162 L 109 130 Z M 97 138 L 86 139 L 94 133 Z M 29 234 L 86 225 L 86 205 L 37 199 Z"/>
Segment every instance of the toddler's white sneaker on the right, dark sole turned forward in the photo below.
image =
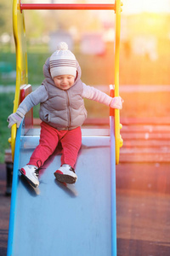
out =
<path fill-rule="evenodd" d="M 74 169 L 69 165 L 60 166 L 60 168 L 54 172 L 54 176 L 60 183 L 76 183 L 77 174 Z"/>

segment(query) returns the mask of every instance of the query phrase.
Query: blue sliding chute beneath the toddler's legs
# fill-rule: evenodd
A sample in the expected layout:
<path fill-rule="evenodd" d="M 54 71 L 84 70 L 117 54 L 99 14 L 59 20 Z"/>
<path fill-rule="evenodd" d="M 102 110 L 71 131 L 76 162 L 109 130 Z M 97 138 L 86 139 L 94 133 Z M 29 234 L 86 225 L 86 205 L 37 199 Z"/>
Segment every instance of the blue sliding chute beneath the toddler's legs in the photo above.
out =
<path fill-rule="evenodd" d="M 110 131 L 100 129 L 93 130 L 95 135 L 82 131 L 77 183 L 66 186 L 55 180 L 54 172 L 60 165 L 58 151 L 43 166 L 40 186 L 33 189 L 18 170 L 37 146 L 39 130 L 31 129 L 22 136 L 20 126 L 15 143 L 8 256 L 116 255 L 113 127 L 111 136 Z"/>

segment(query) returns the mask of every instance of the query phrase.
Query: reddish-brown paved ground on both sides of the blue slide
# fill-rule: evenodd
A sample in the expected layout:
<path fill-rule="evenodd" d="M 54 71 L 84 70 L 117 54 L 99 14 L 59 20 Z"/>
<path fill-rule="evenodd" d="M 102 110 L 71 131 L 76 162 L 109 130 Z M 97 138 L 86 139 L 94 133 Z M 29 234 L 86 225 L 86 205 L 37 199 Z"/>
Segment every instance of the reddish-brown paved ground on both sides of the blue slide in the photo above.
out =
<path fill-rule="evenodd" d="M 117 256 L 170 255 L 169 167 L 168 163 L 116 166 Z M 5 171 L 0 165 L 1 256 L 7 250 L 10 208 Z"/>

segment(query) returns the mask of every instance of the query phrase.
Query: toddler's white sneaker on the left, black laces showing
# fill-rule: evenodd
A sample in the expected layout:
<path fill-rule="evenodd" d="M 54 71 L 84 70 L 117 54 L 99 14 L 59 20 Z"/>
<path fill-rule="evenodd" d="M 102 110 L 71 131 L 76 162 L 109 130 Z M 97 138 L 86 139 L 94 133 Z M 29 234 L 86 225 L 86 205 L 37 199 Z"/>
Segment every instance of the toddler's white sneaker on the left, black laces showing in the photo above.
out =
<path fill-rule="evenodd" d="M 26 179 L 31 183 L 34 188 L 37 188 L 37 186 L 39 186 L 37 169 L 37 166 L 31 165 L 24 166 L 20 169 L 20 172 L 24 175 L 24 177 L 26 177 Z"/>

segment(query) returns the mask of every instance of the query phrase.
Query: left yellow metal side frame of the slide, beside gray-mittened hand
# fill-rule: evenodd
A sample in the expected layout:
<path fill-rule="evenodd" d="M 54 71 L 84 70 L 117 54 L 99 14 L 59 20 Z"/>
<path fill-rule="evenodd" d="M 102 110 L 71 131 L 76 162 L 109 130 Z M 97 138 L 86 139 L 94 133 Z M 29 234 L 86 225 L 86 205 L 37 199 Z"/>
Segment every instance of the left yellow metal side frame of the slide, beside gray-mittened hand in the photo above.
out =
<path fill-rule="evenodd" d="M 14 0 L 13 2 L 13 32 L 16 49 L 16 87 L 13 112 L 16 112 L 20 104 L 20 86 L 28 84 L 26 28 L 24 14 L 20 11 L 20 0 Z M 16 129 L 16 125 L 13 125 L 11 129 L 11 137 L 8 139 L 8 142 L 11 144 L 13 160 Z"/>

